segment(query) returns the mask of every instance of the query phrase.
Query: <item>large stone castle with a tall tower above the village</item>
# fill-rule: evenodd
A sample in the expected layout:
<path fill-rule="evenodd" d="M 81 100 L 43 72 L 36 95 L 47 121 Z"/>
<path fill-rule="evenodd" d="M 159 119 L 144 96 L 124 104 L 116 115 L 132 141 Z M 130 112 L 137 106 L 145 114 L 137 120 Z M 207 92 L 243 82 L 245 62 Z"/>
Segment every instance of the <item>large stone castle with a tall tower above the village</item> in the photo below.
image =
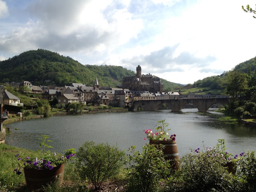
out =
<path fill-rule="evenodd" d="M 136 68 L 136 75 L 123 77 L 122 86 L 124 89 L 133 91 L 150 91 L 163 92 L 163 83 L 159 77 L 154 77 L 150 73 L 147 75 L 141 74 L 141 66 Z"/>

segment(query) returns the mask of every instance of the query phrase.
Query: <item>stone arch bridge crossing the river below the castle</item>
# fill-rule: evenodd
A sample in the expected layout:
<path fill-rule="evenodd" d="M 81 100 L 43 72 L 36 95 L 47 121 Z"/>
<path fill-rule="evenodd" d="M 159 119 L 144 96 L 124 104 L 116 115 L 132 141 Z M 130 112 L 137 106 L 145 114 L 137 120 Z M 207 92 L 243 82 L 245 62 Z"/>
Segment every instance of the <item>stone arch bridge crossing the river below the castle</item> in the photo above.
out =
<path fill-rule="evenodd" d="M 145 111 L 157 111 L 157 109 L 165 104 L 168 109 L 173 112 L 181 111 L 186 104 L 193 104 L 199 112 L 207 112 L 213 104 L 222 104 L 223 106 L 229 103 L 229 98 L 196 98 L 196 99 L 178 99 L 178 100 L 146 100 L 133 101 L 133 111 L 137 111 L 140 107 Z"/>

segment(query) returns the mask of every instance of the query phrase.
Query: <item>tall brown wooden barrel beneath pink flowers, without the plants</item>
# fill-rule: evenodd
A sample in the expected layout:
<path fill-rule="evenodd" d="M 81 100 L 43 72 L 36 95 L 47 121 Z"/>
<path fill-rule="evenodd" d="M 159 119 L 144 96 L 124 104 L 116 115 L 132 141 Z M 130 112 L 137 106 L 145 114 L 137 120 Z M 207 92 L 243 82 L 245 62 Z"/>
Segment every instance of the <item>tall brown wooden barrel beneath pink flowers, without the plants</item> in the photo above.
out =
<path fill-rule="evenodd" d="M 177 144 L 176 144 L 176 140 L 172 141 L 172 140 L 149 140 L 149 144 L 151 145 L 164 145 L 164 150 L 163 150 L 163 155 L 165 156 L 164 158 L 166 160 L 170 160 L 170 165 L 171 165 L 171 169 L 172 170 L 178 170 L 179 167 L 179 162 L 178 162 L 178 148 L 177 148 Z"/>

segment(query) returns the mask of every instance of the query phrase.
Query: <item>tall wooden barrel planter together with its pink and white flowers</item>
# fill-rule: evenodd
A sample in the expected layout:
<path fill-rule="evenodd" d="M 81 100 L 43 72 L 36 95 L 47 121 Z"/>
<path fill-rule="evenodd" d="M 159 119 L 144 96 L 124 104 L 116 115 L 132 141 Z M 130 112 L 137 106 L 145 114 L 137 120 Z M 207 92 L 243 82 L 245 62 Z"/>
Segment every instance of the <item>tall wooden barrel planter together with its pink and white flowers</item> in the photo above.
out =
<path fill-rule="evenodd" d="M 169 123 L 165 122 L 165 119 L 158 121 L 157 125 L 155 125 L 156 132 L 153 133 L 151 129 L 144 130 L 149 139 L 149 144 L 151 145 L 164 145 L 163 154 L 166 160 L 170 160 L 171 168 L 173 170 L 178 170 L 178 149 L 176 144 L 176 135 L 169 135 L 167 131 L 170 129 L 166 129 Z M 144 138 L 146 140 L 147 138 Z"/>

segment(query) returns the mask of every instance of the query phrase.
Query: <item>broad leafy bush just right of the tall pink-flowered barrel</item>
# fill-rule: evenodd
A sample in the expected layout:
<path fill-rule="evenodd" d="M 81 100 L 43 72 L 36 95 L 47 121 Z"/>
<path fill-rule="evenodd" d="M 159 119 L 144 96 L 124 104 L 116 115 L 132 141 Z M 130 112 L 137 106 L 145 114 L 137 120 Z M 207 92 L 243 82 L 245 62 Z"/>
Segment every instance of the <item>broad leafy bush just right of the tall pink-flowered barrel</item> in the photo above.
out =
<path fill-rule="evenodd" d="M 232 191 L 235 179 L 224 167 L 225 159 L 218 148 L 191 152 L 180 159 L 180 169 L 170 179 L 173 191 Z"/>

